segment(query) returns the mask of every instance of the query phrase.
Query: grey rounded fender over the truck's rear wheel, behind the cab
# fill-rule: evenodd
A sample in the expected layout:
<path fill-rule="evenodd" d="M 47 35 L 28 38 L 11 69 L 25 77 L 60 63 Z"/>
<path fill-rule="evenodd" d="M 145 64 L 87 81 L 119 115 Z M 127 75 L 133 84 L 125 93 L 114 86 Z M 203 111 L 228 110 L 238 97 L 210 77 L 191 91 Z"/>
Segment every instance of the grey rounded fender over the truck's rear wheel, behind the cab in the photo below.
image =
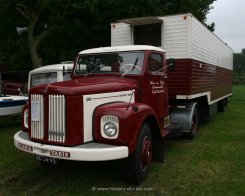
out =
<path fill-rule="evenodd" d="M 191 132 L 193 126 L 193 115 L 198 111 L 196 102 L 186 105 L 176 106 L 171 110 L 171 122 L 176 122 L 182 126 L 182 132 Z"/>

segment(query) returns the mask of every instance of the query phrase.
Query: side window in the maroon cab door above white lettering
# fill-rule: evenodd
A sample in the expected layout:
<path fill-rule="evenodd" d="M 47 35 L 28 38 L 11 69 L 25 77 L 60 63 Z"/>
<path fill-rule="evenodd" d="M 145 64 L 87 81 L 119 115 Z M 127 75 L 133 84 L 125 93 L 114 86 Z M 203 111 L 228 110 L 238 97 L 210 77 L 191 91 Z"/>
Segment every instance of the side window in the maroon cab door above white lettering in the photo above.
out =
<path fill-rule="evenodd" d="M 151 54 L 149 59 L 149 72 L 163 72 L 163 58 L 160 54 Z"/>

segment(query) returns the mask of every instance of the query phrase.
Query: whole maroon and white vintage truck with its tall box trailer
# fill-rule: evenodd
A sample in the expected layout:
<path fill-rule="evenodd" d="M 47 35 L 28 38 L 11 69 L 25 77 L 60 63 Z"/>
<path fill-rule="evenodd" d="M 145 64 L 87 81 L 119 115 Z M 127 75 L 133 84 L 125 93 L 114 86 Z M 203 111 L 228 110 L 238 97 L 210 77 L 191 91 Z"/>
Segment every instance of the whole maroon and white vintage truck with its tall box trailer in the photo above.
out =
<path fill-rule="evenodd" d="M 111 27 L 114 46 L 81 51 L 72 80 L 30 89 L 14 143 L 42 162 L 124 159 L 128 180 L 139 184 L 151 162 L 163 161 L 166 136 L 193 139 L 200 118 L 224 111 L 232 50 L 191 14 Z M 161 41 L 141 43 L 145 31 L 155 39 L 155 27 Z"/>

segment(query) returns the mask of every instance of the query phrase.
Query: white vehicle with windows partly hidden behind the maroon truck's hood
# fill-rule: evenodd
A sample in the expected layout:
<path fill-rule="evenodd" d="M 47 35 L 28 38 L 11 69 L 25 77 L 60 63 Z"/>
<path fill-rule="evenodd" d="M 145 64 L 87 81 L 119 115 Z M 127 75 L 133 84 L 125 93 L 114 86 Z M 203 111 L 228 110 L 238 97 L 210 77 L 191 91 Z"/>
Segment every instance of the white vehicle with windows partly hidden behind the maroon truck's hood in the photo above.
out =
<path fill-rule="evenodd" d="M 28 91 L 31 87 L 48 84 L 53 82 L 61 82 L 71 79 L 73 62 L 61 62 L 60 64 L 46 65 L 29 72 Z"/>

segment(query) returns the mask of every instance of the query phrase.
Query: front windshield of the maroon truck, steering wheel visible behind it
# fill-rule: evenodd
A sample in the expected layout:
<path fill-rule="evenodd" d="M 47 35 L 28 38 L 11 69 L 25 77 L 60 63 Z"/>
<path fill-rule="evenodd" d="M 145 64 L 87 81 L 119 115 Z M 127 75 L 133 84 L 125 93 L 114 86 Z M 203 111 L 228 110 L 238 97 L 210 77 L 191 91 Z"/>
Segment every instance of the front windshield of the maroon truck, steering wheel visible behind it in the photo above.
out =
<path fill-rule="evenodd" d="M 75 74 L 120 73 L 138 75 L 144 61 L 144 52 L 114 52 L 81 55 L 76 63 Z"/>

